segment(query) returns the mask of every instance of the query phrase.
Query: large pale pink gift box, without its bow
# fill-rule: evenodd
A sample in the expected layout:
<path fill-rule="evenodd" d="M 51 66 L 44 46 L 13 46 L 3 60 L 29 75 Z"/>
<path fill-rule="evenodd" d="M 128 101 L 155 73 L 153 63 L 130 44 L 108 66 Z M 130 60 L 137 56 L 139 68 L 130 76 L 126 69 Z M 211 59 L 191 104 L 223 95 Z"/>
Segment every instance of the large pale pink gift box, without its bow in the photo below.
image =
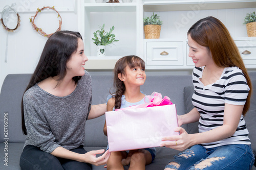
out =
<path fill-rule="evenodd" d="M 109 111 L 105 116 L 111 152 L 160 147 L 163 137 L 179 135 L 174 131 L 175 105 Z"/>

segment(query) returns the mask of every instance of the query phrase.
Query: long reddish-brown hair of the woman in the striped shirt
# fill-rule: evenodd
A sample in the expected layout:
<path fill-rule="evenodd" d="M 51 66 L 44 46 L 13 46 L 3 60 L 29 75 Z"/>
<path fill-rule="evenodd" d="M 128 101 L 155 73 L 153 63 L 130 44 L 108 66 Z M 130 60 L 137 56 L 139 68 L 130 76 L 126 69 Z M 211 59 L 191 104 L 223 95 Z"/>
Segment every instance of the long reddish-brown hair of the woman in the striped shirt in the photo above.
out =
<path fill-rule="evenodd" d="M 243 109 L 243 115 L 249 110 L 250 96 L 252 86 L 249 75 L 245 68 L 243 59 L 239 53 L 237 45 L 234 43 L 227 28 L 217 18 L 209 16 L 197 21 L 187 32 L 187 35 L 196 41 L 199 45 L 208 48 L 212 59 L 219 67 L 237 66 L 243 71 L 247 84 L 250 88 L 246 103 Z"/>

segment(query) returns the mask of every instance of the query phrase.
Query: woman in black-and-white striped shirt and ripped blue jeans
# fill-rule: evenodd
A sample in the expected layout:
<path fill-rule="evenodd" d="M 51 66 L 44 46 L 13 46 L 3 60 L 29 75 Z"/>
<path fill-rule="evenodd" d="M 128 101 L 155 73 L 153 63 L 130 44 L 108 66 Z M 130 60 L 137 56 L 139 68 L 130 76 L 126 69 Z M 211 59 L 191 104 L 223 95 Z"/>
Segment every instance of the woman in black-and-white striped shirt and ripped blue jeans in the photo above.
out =
<path fill-rule="evenodd" d="M 187 33 L 193 70 L 195 106 L 178 116 L 179 125 L 199 121 L 199 133 L 178 136 L 161 146 L 180 153 L 169 169 L 250 169 L 254 162 L 244 115 L 249 109 L 251 81 L 238 48 L 223 23 L 215 17 L 197 21 Z"/>

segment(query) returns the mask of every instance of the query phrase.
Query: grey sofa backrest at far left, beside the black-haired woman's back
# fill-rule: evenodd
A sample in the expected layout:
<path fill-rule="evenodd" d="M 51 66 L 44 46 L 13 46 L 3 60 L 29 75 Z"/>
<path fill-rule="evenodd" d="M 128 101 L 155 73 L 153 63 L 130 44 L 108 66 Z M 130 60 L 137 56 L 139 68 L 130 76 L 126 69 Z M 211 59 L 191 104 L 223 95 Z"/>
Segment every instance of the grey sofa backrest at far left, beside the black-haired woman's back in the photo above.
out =
<path fill-rule="evenodd" d="M 8 142 L 24 143 L 26 136 L 22 132 L 22 96 L 29 83 L 31 74 L 7 75 L 0 95 L 0 122 L 4 122 L 4 113 L 8 114 Z M 4 124 L 0 123 L 0 129 Z M 0 133 L 3 142 L 4 133 Z"/>

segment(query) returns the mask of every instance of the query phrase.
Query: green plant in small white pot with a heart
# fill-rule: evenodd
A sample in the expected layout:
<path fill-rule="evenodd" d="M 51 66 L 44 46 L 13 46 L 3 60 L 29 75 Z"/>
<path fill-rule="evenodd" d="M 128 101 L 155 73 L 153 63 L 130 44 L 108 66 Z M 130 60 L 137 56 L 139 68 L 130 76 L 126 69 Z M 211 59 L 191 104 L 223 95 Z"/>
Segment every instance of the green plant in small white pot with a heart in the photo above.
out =
<path fill-rule="evenodd" d="M 93 43 L 97 45 L 97 56 L 105 56 L 105 46 L 113 42 L 119 41 L 115 38 L 115 34 L 112 34 L 115 27 L 110 28 L 110 32 L 104 30 L 105 24 L 93 33 L 94 38 L 92 38 Z"/>

